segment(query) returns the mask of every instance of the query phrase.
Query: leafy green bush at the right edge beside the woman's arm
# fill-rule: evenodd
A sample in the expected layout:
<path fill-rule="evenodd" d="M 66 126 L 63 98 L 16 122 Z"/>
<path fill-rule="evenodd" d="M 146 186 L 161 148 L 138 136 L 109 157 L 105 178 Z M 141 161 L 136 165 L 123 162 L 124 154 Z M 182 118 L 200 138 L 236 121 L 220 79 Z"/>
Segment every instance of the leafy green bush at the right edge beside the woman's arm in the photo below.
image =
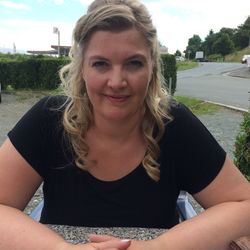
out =
<path fill-rule="evenodd" d="M 244 114 L 241 130 L 235 141 L 234 156 L 236 166 L 250 181 L 250 112 Z"/>

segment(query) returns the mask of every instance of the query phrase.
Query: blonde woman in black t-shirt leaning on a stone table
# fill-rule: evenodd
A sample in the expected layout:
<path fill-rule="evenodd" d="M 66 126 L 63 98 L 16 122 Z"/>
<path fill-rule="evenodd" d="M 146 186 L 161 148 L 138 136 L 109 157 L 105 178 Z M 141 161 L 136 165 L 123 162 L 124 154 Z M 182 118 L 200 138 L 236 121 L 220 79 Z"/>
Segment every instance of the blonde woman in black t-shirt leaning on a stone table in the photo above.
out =
<path fill-rule="evenodd" d="M 1 249 L 228 249 L 250 234 L 249 183 L 198 119 L 168 100 L 143 5 L 94 1 L 71 57 L 61 72 L 68 98 L 39 101 L 1 147 Z M 70 245 L 20 212 L 42 181 L 42 223 L 169 230 Z M 178 224 L 181 189 L 206 211 Z"/>

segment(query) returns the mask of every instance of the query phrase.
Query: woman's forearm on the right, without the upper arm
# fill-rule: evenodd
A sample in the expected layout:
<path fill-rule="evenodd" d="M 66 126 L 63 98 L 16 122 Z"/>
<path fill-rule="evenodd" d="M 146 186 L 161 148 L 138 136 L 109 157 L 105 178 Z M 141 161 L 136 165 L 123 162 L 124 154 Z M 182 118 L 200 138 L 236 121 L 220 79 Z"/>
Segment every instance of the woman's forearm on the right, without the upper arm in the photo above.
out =
<path fill-rule="evenodd" d="M 250 201 L 223 203 L 168 230 L 155 240 L 155 246 L 157 249 L 226 250 L 232 240 L 250 235 L 249 215 Z"/>

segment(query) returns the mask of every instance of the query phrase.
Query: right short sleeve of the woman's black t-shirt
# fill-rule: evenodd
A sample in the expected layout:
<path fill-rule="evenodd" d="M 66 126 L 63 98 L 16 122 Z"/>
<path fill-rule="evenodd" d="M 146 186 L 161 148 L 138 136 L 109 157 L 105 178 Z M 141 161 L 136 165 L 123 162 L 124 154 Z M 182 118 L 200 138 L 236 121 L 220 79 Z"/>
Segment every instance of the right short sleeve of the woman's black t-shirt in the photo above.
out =
<path fill-rule="evenodd" d="M 179 188 L 191 194 L 208 186 L 220 172 L 226 152 L 201 121 L 183 104 L 172 106 L 175 172 Z"/>

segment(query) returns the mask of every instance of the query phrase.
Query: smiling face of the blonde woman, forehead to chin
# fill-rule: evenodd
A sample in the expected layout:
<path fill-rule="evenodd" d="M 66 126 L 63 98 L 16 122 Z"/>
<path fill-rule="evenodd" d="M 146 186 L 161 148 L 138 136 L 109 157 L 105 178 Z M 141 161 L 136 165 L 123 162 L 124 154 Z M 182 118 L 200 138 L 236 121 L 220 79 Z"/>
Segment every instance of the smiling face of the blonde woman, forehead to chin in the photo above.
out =
<path fill-rule="evenodd" d="M 82 77 L 95 120 L 141 117 L 152 68 L 150 49 L 135 28 L 93 33 L 85 49 Z"/>

